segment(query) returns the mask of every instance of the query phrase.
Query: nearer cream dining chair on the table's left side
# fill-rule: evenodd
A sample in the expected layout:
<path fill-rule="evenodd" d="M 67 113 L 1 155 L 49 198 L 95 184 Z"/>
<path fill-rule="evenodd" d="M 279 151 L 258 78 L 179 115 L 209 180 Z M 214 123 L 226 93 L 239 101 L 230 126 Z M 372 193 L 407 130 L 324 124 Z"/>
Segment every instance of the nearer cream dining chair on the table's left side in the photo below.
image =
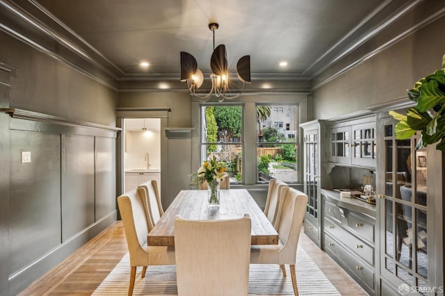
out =
<path fill-rule="evenodd" d="M 145 277 L 148 265 L 175 265 L 175 248 L 146 245 L 149 232 L 147 219 L 136 189 L 118 197 L 118 206 L 130 254 L 131 272 L 128 295 L 132 295 L 136 268 L 143 266 L 142 277 Z"/>

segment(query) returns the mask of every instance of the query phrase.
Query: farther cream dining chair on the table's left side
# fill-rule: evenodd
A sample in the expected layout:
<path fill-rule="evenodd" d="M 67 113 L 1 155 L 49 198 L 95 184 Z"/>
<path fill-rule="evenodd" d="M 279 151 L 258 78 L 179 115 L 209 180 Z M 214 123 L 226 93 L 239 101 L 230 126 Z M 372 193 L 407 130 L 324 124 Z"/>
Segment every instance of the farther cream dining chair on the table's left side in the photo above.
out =
<path fill-rule="evenodd" d="M 164 213 L 158 182 L 150 180 L 140 184 L 138 186 L 138 194 L 142 199 L 145 215 L 147 216 L 148 231 L 151 231 Z"/>

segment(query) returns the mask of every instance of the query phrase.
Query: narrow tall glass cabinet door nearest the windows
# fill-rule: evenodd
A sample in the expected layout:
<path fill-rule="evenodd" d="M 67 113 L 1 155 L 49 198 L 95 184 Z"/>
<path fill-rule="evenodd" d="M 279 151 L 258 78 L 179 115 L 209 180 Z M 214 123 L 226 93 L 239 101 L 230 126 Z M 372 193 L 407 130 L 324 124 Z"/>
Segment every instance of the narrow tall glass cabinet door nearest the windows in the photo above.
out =
<path fill-rule="evenodd" d="M 305 134 L 305 192 L 308 202 L 306 212 L 314 221 L 318 218 L 318 130 Z"/>

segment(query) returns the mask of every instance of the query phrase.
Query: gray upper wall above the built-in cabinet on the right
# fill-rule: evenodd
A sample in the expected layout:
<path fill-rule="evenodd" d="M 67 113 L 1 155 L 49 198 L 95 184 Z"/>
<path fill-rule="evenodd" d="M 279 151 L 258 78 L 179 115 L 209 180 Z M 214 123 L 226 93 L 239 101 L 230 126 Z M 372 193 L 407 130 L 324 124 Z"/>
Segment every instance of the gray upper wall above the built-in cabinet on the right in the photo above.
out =
<path fill-rule="evenodd" d="M 402 38 L 439 6 L 445 3 L 423 1 L 412 13 L 319 74 L 314 79 L 312 118 L 330 119 L 406 98 L 414 82 L 442 68 L 445 17 Z M 393 38 L 401 39 L 390 42 Z M 342 72 L 354 63 L 359 64 Z"/>

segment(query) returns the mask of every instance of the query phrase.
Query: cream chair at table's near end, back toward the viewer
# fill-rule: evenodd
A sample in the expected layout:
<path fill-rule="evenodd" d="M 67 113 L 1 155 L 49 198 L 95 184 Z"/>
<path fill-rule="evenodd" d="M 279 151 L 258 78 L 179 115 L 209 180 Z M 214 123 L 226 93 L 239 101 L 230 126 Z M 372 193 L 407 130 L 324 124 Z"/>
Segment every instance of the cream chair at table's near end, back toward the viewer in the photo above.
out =
<path fill-rule="evenodd" d="M 175 218 L 178 295 L 248 295 L 251 222 Z M 236 238 L 236 239 L 234 239 Z"/>

